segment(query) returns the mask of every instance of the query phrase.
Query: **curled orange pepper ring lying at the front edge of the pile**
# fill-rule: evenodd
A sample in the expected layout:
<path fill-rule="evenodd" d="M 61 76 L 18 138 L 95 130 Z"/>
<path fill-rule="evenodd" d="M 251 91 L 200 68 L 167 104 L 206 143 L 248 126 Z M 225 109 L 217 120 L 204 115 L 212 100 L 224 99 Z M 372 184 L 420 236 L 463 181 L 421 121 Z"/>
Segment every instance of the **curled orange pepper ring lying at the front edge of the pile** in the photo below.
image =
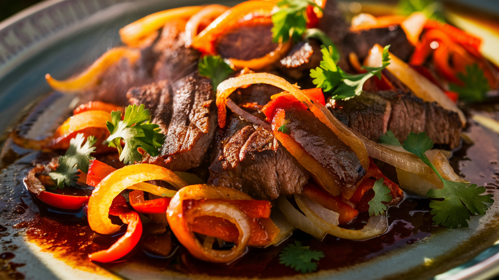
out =
<path fill-rule="evenodd" d="M 184 204 L 185 201 L 200 199 L 204 201 L 196 202 L 195 205 Z M 172 198 L 167 210 L 168 223 L 180 243 L 194 257 L 208 262 L 227 263 L 240 257 L 246 251 L 253 228 L 252 221 L 243 210 L 232 204 L 231 200 L 249 201 L 251 197 L 232 188 L 191 185 L 180 189 Z M 205 218 L 206 216 L 210 218 Z M 234 230 L 230 227 L 232 223 L 239 232 L 237 245 L 231 250 L 213 250 L 212 243 L 215 237 L 207 237 L 204 244 L 201 244 L 193 233 L 193 227 L 204 230 L 203 227 L 197 227 L 195 225 L 197 223 L 210 227 L 212 229 L 209 230 L 210 232 L 224 235 L 226 238 L 236 236 L 236 233 L 228 233 Z M 227 232 L 224 233 L 218 229 L 218 226 L 227 229 Z"/>

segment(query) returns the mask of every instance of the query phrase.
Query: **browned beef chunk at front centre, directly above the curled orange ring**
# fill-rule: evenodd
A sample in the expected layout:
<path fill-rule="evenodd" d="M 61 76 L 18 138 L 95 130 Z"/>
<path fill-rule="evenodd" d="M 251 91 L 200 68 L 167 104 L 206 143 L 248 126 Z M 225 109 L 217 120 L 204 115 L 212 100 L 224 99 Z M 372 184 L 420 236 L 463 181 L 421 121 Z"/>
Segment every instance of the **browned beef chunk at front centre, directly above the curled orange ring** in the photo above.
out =
<path fill-rule="evenodd" d="M 308 172 L 272 133 L 232 116 L 219 131 L 209 184 L 232 187 L 257 199 L 301 193 Z"/>

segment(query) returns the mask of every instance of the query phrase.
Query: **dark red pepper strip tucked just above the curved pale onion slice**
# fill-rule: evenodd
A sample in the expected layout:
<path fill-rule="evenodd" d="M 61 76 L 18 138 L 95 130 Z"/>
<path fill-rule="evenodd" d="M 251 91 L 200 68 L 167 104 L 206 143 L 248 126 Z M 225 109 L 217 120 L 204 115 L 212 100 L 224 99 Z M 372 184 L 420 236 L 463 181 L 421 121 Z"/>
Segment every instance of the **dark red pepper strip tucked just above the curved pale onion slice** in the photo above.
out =
<path fill-rule="evenodd" d="M 344 225 L 357 217 L 358 211 L 341 201 L 340 196 L 332 196 L 323 191 L 318 186 L 307 183 L 303 186 L 302 194 L 322 205 L 324 208 L 332 210 L 340 215 L 338 221 Z"/>

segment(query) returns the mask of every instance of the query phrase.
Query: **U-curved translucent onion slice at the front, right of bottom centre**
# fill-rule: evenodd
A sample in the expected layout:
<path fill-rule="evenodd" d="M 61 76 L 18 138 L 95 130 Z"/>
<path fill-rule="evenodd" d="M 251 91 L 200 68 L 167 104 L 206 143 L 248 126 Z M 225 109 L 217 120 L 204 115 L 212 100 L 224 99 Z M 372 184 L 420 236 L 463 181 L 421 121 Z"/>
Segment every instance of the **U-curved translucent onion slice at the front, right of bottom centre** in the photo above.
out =
<path fill-rule="evenodd" d="M 330 235 L 350 240 L 366 240 L 380 236 L 388 229 L 388 219 L 386 216 L 372 216 L 361 230 L 348 230 L 337 226 L 338 213 L 328 210 L 314 200 L 295 194 L 296 204 L 307 218 L 321 230 Z M 334 214 L 338 215 L 335 216 Z M 336 217 L 336 218 L 335 218 Z M 335 225 L 336 223 L 336 225 Z"/>

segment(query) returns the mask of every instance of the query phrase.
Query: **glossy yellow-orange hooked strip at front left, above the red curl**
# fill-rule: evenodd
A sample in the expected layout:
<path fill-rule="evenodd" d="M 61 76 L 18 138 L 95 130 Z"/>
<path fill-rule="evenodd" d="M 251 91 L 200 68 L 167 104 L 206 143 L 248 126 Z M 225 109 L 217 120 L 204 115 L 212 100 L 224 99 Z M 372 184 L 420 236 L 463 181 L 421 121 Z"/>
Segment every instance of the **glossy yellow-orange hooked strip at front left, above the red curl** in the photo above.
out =
<path fill-rule="evenodd" d="M 164 180 L 177 187 L 187 185 L 173 171 L 154 164 L 139 163 L 117 169 L 102 179 L 90 196 L 88 201 L 90 228 L 100 234 L 111 234 L 119 230 L 119 226 L 111 223 L 108 212 L 112 200 L 127 188 L 160 196 L 172 196 L 175 193 L 173 190 L 142 183 L 149 180 Z"/>

